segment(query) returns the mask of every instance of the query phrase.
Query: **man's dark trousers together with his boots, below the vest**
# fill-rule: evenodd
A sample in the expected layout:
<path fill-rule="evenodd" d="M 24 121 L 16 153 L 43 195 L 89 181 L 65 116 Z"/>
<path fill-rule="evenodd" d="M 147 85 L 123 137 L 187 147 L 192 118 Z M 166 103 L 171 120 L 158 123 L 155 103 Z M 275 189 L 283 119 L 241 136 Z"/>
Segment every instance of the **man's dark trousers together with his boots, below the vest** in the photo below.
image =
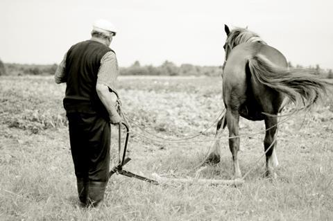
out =
<path fill-rule="evenodd" d="M 80 202 L 103 200 L 110 165 L 110 122 L 96 114 L 68 113 L 71 156 Z"/>

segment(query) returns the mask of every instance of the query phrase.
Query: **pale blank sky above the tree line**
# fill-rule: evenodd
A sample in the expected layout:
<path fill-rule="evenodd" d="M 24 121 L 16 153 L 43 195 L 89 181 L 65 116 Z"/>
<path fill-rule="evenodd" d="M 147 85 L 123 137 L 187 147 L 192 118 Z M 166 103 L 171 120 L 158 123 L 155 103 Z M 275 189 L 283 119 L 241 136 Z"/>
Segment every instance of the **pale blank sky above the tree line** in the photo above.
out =
<path fill-rule="evenodd" d="M 332 0 L 0 0 L 0 59 L 59 63 L 96 19 L 117 27 L 119 66 L 223 64 L 224 24 L 255 31 L 292 64 L 333 69 Z"/>

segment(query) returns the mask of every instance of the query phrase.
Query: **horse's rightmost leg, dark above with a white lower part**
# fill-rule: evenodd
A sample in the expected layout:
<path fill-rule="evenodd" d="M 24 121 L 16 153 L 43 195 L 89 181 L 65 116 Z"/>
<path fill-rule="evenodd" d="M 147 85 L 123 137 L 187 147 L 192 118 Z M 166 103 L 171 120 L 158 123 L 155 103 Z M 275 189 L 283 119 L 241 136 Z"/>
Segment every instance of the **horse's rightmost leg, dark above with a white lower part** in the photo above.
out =
<path fill-rule="evenodd" d="M 275 139 L 275 134 L 277 131 L 278 117 L 276 116 L 266 116 L 265 117 L 265 126 L 266 126 L 266 135 L 264 139 L 264 148 L 266 150 L 271 147 L 266 152 L 266 177 L 276 177 L 276 174 L 273 171 L 273 166 L 277 166 L 278 159 L 275 155 L 275 146 L 277 141 Z M 274 142 L 274 143 L 273 143 Z"/>

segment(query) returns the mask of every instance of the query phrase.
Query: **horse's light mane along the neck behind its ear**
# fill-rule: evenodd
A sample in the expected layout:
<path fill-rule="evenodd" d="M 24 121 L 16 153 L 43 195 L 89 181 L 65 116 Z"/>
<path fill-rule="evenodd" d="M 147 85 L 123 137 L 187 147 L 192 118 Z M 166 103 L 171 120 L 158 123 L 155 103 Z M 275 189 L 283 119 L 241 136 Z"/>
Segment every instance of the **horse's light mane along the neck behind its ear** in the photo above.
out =
<path fill-rule="evenodd" d="M 259 35 L 254 33 L 253 31 L 248 30 L 247 28 L 234 28 L 228 35 L 227 44 L 230 48 L 234 48 L 235 46 L 245 43 L 245 42 L 261 42 L 262 44 L 266 44 Z"/>

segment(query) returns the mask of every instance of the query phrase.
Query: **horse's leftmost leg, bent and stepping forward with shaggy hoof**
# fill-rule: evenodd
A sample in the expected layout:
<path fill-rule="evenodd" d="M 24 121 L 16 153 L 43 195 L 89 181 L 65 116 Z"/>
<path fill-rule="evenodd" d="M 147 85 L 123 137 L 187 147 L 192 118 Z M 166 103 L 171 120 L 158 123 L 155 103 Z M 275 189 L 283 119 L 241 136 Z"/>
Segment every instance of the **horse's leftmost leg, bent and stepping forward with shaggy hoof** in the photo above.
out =
<path fill-rule="evenodd" d="M 222 118 L 217 123 L 215 139 L 220 138 L 221 132 L 224 127 L 225 127 L 225 115 L 223 115 Z M 212 148 L 210 148 L 210 153 L 207 155 L 207 158 L 205 159 L 205 163 L 212 163 L 212 164 L 219 163 L 220 157 L 221 157 L 220 141 L 217 140 L 217 141 L 215 141 Z"/>

